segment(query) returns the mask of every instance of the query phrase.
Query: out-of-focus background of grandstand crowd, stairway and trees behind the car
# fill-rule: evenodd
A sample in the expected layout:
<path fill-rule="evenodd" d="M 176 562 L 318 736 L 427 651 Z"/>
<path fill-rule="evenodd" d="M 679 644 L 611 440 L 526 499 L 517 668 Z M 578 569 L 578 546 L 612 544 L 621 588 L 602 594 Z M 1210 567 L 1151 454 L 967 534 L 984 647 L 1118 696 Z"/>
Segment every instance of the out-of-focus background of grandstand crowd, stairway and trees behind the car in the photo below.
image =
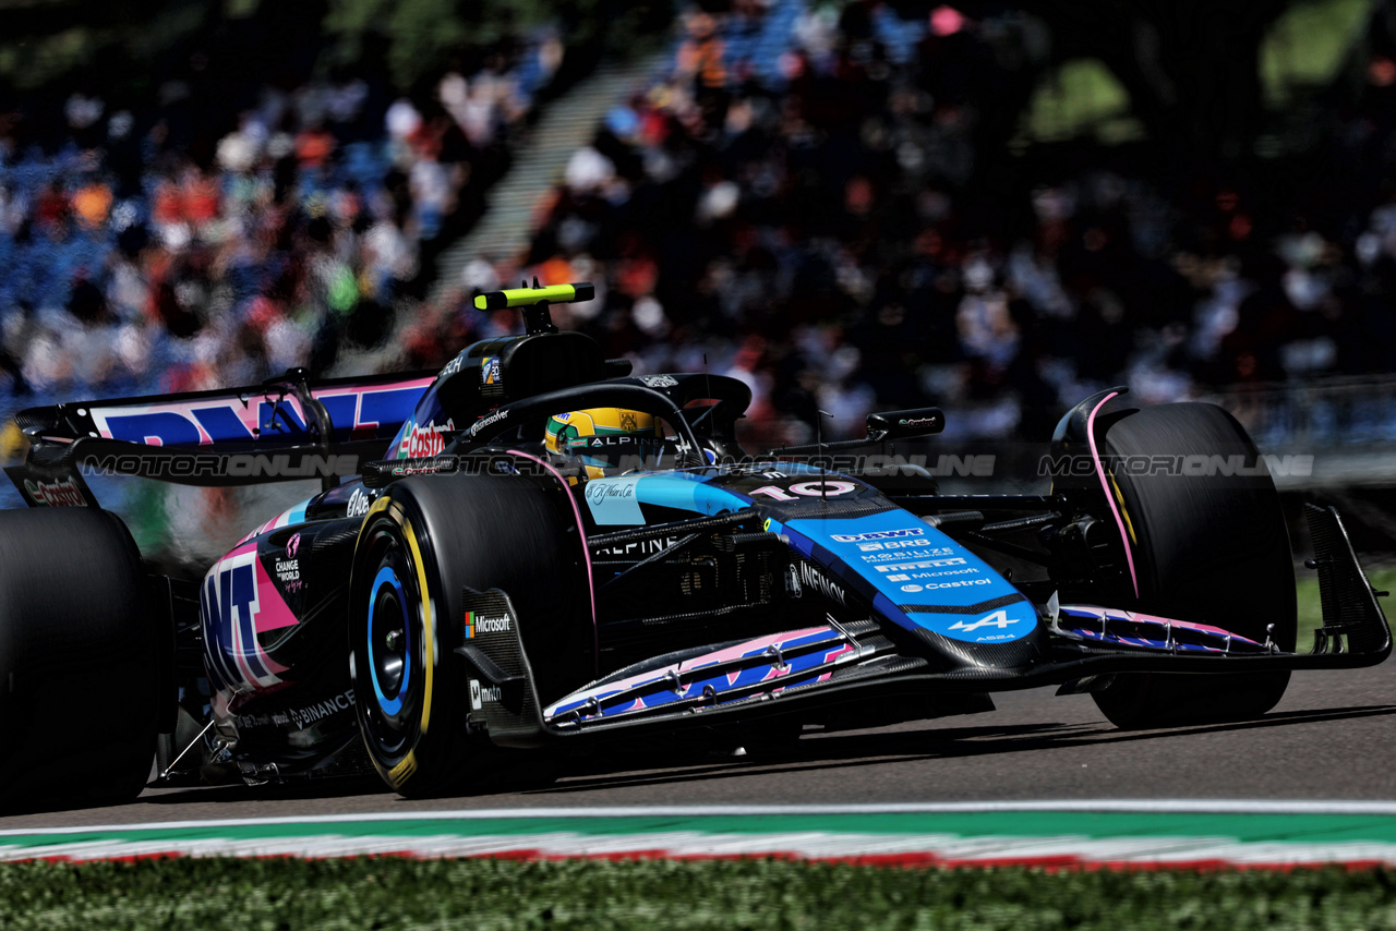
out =
<path fill-rule="evenodd" d="M 935 403 L 1027 487 L 1128 384 L 1390 542 L 1393 169 L 1389 0 L 6 0 L 0 413 L 440 366 L 536 275 L 755 448 Z M 314 490 L 95 487 L 190 561 Z"/>

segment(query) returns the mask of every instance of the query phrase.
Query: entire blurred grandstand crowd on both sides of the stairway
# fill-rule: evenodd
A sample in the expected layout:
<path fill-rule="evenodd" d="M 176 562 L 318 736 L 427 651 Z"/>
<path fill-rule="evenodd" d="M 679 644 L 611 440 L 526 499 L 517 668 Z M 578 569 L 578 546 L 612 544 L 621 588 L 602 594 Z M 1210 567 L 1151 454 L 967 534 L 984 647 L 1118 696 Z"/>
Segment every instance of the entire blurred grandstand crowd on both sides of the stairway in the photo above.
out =
<path fill-rule="evenodd" d="M 1396 63 L 1374 53 L 1322 211 L 1262 221 L 1242 184 L 1159 190 L 1124 169 L 1040 179 L 1022 229 L 963 194 L 981 89 L 1040 45 L 1030 15 L 903 20 L 879 3 L 692 10 L 539 207 L 528 254 L 475 257 L 429 299 L 424 260 L 475 219 L 511 127 L 556 71 L 549 33 L 424 98 L 352 74 L 219 112 L 188 80 L 145 110 L 67 100 L 0 123 L 0 391 L 184 391 L 430 367 L 508 332 L 477 290 L 593 281 L 558 307 L 638 371 L 752 385 L 752 426 L 853 435 L 877 408 L 948 405 L 948 433 L 1040 440 L 1127 382 L 1208 387 L 1396 370 Z M 1016 50 L 1015 54 L 1005 53 Z M 190 114 L 215 110 L 207 158 Z M 1002 205 L 1005 211 L 1013 205 Z M 1011 211 L 1009 211 L 1011 212 Z M 14 403 L 11 406 L 21 406 Z"/>

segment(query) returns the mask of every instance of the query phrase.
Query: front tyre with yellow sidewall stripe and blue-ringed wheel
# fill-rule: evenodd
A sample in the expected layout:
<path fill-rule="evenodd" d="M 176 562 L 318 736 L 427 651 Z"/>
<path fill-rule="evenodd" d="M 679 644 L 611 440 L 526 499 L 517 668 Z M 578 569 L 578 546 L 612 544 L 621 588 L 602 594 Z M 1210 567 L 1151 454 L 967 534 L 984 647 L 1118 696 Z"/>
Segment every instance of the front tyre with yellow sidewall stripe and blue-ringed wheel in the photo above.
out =
<path fill-rule="evenodd" d="M 472 733 L 469 667 L 455 653 L 465 588 L 510 596 L 543 698 L 588 677 L 591 602 L 567 497 L 522 476 L 423 476 L 369 509 L 350 582 L 350 674 L 364 744 L 398 793 L 494 787 L 533 752 Z"/>

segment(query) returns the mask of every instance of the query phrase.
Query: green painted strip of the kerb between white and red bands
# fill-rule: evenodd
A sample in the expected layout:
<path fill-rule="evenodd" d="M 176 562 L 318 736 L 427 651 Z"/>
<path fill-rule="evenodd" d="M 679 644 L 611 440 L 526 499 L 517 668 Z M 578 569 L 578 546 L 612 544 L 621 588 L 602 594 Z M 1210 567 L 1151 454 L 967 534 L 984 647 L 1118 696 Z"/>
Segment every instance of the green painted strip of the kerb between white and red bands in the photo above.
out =
<path fill-rule="evenodd" d="M 826 815 L 630 815 L 616 818 L 412 818 L 392 821 L 317 821 L 314 824 L 233 824 L 180 828 L 92 829 L 71 833 L 35 831 L 0 837 L 3 844 L 49 846 L 99 840 L 255 840 L 292 839 L 317 835 L 343 837 L 440 836 L 461 837 L 543 833 L 575 833 L 609 837 L 658 832 L 699 832 L 769 835 L 826 832 L 859 835 L 955 835 L 959 837 L 1012 836 L 1087 839 L 1111 837 L 1230 837 L 1241 843 L 1353 843 L 1396 844 L 1396 817 L 1392 815 L 1217 815 L 1163 812 L 906 812 Z"/>

